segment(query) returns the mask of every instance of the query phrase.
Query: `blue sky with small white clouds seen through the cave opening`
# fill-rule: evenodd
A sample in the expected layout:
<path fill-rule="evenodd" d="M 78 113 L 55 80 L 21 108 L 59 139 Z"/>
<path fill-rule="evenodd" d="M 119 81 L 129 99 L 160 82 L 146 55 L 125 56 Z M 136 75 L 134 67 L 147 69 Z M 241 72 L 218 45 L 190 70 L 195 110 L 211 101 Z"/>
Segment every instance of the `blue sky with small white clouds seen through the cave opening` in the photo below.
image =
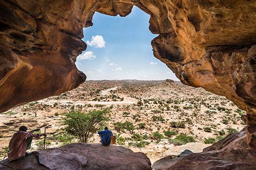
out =
<path fill-rule="evenodd" d="M 178 80 L 175 74 L 154 57 L 149 30 L 149 15 L 133 6 L 126 17 L 96 12 L 93 26 L 85 28 L 87 49 L 76 65 L 87 80 Z"/>

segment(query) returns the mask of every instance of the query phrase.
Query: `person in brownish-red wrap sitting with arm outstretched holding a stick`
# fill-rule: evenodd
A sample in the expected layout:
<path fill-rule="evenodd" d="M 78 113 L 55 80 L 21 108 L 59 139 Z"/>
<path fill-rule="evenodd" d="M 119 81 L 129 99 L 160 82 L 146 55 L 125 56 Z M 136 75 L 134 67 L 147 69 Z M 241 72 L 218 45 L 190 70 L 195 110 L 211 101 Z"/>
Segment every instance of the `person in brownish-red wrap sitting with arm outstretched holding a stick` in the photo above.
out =
<path fill-rule="evenodd" d="M 15 160 L 21 157 L 29 155 L 26 150 L 30 149 L 32 138 L 39 138 L 41 136 L 46 136 L 46 134 L 36 134 L 33 131 L 26 132 L 28 128 L 26 126 L 21 126 L 19 131 L 14 133 L 9 143 L 8 159 Z"/>

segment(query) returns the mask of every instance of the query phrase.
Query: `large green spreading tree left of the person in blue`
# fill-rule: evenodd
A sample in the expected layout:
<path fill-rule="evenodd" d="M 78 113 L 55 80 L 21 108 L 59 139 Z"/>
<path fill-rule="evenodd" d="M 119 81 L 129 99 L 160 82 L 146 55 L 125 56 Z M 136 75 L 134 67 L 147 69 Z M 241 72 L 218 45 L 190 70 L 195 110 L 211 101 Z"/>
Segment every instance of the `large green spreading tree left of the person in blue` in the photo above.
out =
<path fill-rule="evenodd" d="M 87 141 L 100 129 L 100 124 L 108 121 L 105 117 L 107 110 L 92 110 L 87 113 L 70 111 L 65 113 L 64 125 L 67 133 L 79 137 L 80 142 Z"/>

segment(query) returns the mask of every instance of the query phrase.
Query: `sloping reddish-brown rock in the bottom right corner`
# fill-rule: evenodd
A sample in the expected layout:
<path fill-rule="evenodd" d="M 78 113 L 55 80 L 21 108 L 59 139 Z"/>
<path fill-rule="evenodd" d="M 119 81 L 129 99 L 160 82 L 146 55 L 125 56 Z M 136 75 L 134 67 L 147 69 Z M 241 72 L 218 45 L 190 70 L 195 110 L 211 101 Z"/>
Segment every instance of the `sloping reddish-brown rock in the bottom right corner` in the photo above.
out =
<path fill-rule="evenodd" d="M 218 141 L 201 153 L 163 159 L 166 169 L 255 169 L 256 151 L 246 144 L 246 129 Z M 168 165 L 170 164 L 170 165 Z M 158 166 L 156 166 L 158 167 Z"/>

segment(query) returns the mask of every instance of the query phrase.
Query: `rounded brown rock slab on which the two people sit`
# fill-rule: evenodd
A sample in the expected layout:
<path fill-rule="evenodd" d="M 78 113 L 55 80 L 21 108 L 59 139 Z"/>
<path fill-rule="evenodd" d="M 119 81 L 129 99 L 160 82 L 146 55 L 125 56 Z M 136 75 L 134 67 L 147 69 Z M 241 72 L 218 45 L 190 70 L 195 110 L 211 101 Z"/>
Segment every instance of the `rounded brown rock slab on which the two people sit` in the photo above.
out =
<path fill-rule="evenodd" d="M 0 162 L 0 169 L 151 169 L 149 158 L 121 146 L 75 143 Z"/>

